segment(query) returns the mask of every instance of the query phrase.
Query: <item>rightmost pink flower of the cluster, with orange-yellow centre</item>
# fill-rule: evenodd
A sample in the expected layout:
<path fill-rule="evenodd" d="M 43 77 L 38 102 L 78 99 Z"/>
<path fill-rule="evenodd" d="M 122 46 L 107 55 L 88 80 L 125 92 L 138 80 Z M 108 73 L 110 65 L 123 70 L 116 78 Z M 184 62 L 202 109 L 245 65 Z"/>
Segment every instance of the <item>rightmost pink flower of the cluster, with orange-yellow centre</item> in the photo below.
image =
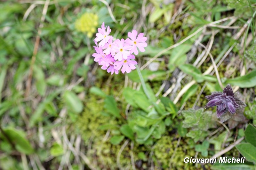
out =
<path fill-rule="evenodd" d="M 145 42 L 147 41 L 147 37 L 143 37 L 144 33 L 139 33 L 137 39 L 137 31 L 136 30 L 132 30 L 132 33 L 129 32 L 128 33 L 128 37 L 130 37 L 132 40 L 130 40 L 129 38 L 127 38 L 125 40 L 125 42 L 129 43 L 130 45 L 132 45 L 132 50 L 131 53 L 134 53 L 135 55 L 139 54 L 139 51 L 137 50 L 137 47 L 139 48 L 139 50 L 141 52 L 145 51 L 145 47 L 148 46 L 148 44 Z"/>

